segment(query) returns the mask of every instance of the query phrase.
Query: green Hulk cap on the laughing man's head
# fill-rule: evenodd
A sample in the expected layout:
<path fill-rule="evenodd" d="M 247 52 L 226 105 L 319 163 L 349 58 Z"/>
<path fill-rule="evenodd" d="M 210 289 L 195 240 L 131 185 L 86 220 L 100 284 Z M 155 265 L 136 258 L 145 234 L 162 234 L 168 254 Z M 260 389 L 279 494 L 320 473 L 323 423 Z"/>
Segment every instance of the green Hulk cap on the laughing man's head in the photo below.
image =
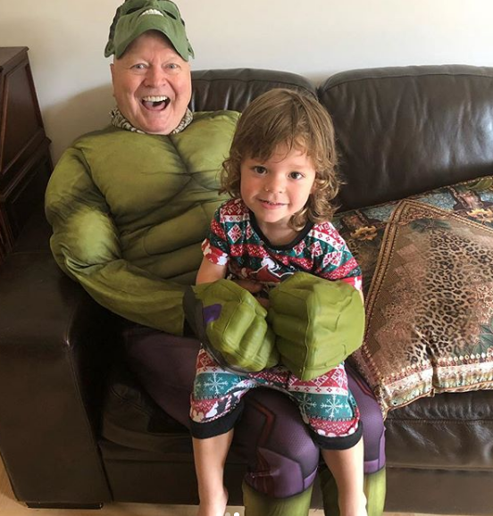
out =
<path fill-rule="evenodd" d="M 194 50 L 188 42 L 185 22 L 171 0 L 126 0 L 116 10 L 104 57 L 123 55 L 130 43 L 147 30 L 158 30 L 167 37 L 178 54 L 188 61 Z"/>

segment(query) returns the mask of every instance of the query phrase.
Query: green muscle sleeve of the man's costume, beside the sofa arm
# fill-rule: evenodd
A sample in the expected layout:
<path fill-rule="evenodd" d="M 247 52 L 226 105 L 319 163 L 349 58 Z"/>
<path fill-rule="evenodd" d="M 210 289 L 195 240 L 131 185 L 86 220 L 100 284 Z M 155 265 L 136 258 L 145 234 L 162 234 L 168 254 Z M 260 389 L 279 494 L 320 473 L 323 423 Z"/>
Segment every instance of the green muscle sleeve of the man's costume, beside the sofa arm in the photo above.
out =
<path fill-rule="evenodd" d="M 182 333 L 184 287 L 122 258 L 109 207 L 77 148 L 63 154 L 49 181 L 46 218 L 56 262 L 96 302 L 140 324 Z"/>

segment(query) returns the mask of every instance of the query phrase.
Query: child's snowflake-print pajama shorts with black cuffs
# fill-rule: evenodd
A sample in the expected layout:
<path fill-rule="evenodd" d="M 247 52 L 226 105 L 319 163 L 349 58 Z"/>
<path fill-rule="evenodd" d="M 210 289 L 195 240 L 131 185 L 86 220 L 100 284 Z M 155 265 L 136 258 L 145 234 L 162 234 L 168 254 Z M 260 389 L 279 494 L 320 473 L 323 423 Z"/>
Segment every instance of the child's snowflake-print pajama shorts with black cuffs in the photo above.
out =
<path fill-rule="evenodd" d="M 344 364 L 315 379 L 302 381 L 283 366 L 254 373 L 223 370 L 204 348 L 196 360 L 191 395 L 192 435 L 207 438 L 232 429 L 241 416 L 241 399 L 255 387 L 269 387 L 289 395 L 299 407 L 313 440 L 325 449 L 343 450 L 362 436 L 355 398 L 347 388 Z"/>

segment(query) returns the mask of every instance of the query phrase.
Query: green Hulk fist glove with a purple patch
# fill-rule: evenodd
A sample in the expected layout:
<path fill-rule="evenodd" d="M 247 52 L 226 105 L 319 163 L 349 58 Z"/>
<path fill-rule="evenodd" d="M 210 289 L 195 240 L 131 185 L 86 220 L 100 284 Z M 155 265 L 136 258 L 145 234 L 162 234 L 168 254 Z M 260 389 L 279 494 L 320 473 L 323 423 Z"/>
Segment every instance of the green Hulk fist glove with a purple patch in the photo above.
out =
<path fill-rule="evenodd" d="M 188 287 L 183 308 L 196 337 L 223 368 L 254 372 L 279 362 L 267 311 L 230 279 Z"/>

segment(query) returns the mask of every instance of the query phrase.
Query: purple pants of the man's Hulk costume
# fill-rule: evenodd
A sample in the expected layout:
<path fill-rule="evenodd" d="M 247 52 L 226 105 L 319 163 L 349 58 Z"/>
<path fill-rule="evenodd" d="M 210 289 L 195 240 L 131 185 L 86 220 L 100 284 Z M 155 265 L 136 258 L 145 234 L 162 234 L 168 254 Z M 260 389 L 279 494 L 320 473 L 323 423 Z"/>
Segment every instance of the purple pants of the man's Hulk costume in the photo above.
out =
<path fill-rule="evenodd" d="M 146 391 L 188 428 L 198 341 L 145 327 L 126 329 L 124 337 L 130 368 Z M 380 408 L 363 379 L 349 367 L 347 376 L 363 423 L 364 471 L 372 473 L 385 465 Z M 253 389 L 244 399 L 233 446 L 247 459 L 247 484 L 278 498 L 305 491 L 312 485 L 321 459 L 297 405 L 272 389 Z"/>

